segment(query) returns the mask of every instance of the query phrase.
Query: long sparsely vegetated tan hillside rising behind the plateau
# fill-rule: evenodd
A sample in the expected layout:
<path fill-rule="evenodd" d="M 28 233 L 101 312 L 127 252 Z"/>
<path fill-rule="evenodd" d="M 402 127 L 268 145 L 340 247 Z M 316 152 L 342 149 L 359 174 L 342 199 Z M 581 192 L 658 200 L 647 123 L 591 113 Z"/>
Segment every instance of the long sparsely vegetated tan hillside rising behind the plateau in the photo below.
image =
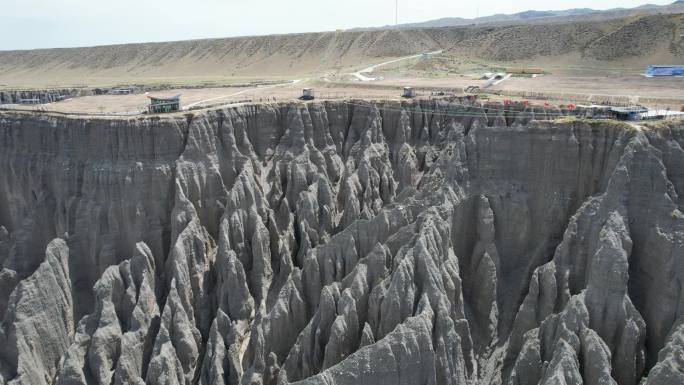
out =
<path fill-rule="evenodd" d="M 338 31 L 0 52 L 0 87 L 230 82 L 349 72 L 443 49 L 497 63 L 572 58 L 595 66 L 684 62 L 684 14 L 501 27 Z"/>

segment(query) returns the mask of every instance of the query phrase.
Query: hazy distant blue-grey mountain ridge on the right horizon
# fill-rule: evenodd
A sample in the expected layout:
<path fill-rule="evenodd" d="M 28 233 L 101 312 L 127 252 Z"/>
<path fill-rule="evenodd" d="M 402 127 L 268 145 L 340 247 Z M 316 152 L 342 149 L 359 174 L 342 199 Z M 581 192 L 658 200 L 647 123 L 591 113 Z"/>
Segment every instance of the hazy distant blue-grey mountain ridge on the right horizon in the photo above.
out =
<path fill-rule="evenodd" d="M 657 13 L 684 13 L 684 0 L 677 0 L 669 5 L 644 4 L 635 8 L 614 8 L 609 10 L 595 10 L 591 8 L 573 8 L 560 11 L 535 11 L 529 10 L 514 14 L 496 14 L 491 16 L 464 19 L 461 17 L 445 17 L 428 20 L 419 23 L 407 23 L 399 25 L 387 25 L 377 29 L 415 29 L 415 28 L 440 28 L 462 27 L 467 25 L 514 25 L 531 23 L 559 23 L 586 20 L 610 20 L 635 15 Z M 359 28 L 369 30 L 376 28 Z"/>

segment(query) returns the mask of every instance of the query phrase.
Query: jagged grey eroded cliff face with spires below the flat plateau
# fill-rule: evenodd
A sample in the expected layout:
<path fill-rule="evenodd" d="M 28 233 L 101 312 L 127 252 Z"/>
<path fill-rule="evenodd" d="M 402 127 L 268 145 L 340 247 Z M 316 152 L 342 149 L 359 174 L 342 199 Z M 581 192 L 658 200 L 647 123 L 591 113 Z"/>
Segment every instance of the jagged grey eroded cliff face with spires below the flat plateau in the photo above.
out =
<path fill-rule="evenodd" d="M 0 384 L 684 381 L 684 126 L 485 107 L 0 114 Z"/>

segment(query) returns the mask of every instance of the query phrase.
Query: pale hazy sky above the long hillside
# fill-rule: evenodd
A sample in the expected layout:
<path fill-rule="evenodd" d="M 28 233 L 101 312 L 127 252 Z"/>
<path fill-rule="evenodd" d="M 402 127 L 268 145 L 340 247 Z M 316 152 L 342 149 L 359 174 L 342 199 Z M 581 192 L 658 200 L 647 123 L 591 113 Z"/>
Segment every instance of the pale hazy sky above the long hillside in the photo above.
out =
<path fill-rule="evenodd" d="M 399 0 L 399 22 L 674 0 Z M 0 50 L 394 24 L 395 0 L 0 0 Z"/>

